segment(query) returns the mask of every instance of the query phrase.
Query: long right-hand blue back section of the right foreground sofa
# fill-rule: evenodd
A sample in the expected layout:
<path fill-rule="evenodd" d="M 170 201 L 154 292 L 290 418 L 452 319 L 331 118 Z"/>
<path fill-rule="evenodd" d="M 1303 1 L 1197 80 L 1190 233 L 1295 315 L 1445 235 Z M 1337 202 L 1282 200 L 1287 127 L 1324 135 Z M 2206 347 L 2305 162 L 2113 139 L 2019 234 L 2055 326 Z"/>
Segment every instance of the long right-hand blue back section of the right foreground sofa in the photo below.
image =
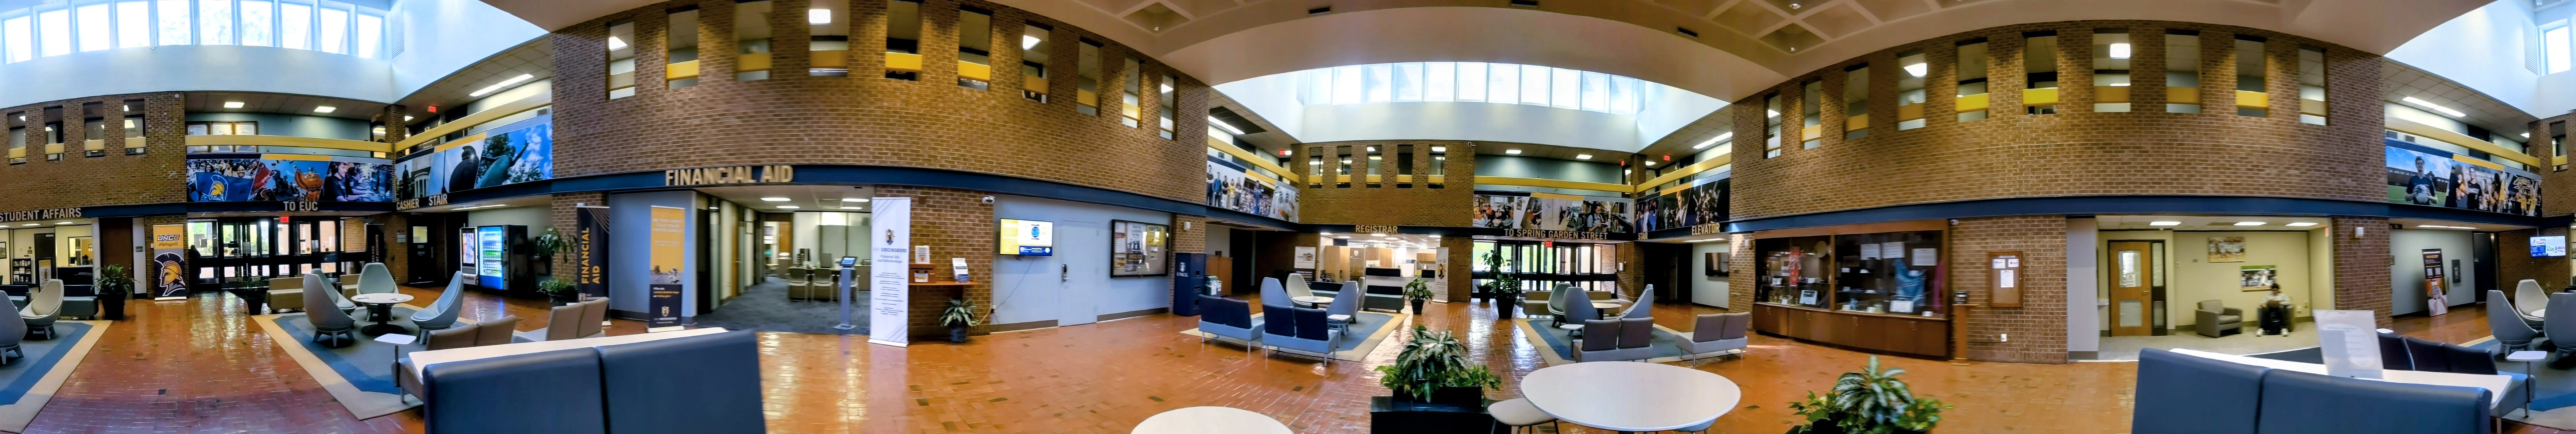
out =
<path fill-rule="evenodd" d="M 2141 395 L 2138 401 L 2143 403 L 2146 398 Z M 2486 434 L 2494 429 L 2486 388 L 2331 378 L 2295 370 L 2264 370 L 2262 403 L 2257 408 L 2254 431 L 2264 434 Z M 2172 416 L 2205 419 L 2205 413 Z"/>

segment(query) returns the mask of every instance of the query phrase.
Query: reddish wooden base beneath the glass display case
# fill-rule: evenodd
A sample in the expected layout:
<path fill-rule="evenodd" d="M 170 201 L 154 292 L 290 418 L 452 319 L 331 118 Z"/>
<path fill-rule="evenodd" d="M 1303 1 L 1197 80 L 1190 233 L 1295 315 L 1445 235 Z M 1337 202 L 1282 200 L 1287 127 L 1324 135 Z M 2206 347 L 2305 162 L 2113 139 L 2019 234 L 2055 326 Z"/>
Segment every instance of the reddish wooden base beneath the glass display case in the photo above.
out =
<path fill-rule="evenodd" d="M 1950 321 L 1932 316 L 1754 303 L 1754 331 L 1860 349 L 1950 357 Z"/>

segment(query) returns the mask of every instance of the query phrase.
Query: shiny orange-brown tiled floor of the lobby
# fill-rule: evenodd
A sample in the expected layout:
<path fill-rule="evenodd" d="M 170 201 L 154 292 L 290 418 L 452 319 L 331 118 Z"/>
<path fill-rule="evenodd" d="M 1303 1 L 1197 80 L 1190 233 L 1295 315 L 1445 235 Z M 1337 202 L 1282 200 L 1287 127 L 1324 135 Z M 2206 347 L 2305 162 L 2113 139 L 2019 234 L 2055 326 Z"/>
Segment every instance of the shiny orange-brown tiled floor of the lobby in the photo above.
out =
<path fill-rule="evenodd" d="M 435 298 L 433 288 L 404 293 Z M 1690 313 L 1710 308 L 1656 306 L 1656 324 L 1690 331 Z M 520 316 L 544 326 L 544 300 L 469 295 L 469 318 Z M 2442 318 L 2398 318 L 2398 329 L 2442 342 L 2483 336 L 2481 308 Z M 1538 347 L 1494 321 L 1489 303 L 1432 303 L 1412 324 L 1458 331 L 1471 357 L 1510 372 L 1492 398 L 1512 398 L 1517 378 L 1540 367 Z M 1267 357 L 1229 344 L 1200 344 L 1177 331 L 1182 316 L 1144 316 L 1090 326 L 976 336 L 969 344 L 922 342 L 909 349 L 858 336 L 762 334 L 762 388 L 773 431 L 1128 431 L 1136 421 L 1182 406 L 1234 406 L 1280 419 L 1296 431 L 1368 431 L 1368 395 L 1383 395 L 1378 372 L 1409 331 L 1396 331 L 1365 362 Z M 618 321 L 611 334 L 639 334 Z M 1914 390 L 1958 408 L 1942 431 L 2125 431 L 2136 365 L 1999 365 L 1955 367 L 1935 360 L 1880 357 L 1904 367 Z M 1788 403 L 1824 390 L 1868 354 L 1754 336 L 1747 357 L 1685 362 L 1744 388 L 1744 403 L 1713 431 L 1785 431 Z M 134 300 L 129 318 L 46 403 L 28 431 L 420 431 L 420 413 L 350 419 L 276 342 L 268 342 L 229 295 Z M 1566 431 L 1582 431 L 1566 426 Z M 2509 426 L 2509 431 L 2545 431 Z"/>

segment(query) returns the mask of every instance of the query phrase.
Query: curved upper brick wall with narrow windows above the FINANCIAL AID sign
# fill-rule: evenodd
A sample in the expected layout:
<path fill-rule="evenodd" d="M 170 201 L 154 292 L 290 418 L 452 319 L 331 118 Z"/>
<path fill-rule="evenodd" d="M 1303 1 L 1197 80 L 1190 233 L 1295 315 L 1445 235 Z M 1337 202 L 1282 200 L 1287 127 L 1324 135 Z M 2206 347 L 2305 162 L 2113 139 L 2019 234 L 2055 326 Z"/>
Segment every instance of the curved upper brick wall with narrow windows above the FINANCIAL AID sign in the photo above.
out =
<path fill-rule="evenodd" d="M 667 8 L 698 5 L 696 87 L 667 90 Z M 1211 87 L 1077 26 L 984 0 L 925 0 L 920 82 L 884 77 L 884 5 L 853 3 L 850 77 L 809 77 L 806 0 L 775 0 L 770 80 L 734 80 L 734 3 L 677 0 L 556 31 L 556 175 L 716 164 L 899 164 L 1036 177 L 1198 203 L 1206 198 Z M 994 10 L 989 90 L 958 87 L 956 10 Z M 636 95 L 605 98 L 605 23 L 636 23 Z M 1020 98 L 1020 23 L 1046 23 L 1048 103 Z M 1100 49 L 1100 116 L 1074 110 L 1077 39 Z M 1141 128 L 1121 126 L 1121 59 L 1144 62 Z M 1157 134 L 1157 87 L 1175 74 L 1175 139 Z M 987 221 L 989 223 L 989 221 Z"/>

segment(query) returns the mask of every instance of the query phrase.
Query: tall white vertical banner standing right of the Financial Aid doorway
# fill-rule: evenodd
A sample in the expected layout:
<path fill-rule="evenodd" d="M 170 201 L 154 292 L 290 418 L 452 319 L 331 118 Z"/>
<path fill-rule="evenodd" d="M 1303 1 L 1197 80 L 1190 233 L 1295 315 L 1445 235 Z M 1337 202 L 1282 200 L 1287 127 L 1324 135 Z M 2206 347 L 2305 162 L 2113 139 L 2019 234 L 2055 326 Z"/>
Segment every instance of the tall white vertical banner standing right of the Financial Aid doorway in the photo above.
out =
<path fill-rule="evenodd" d="M 868 200 L 868 344 L 912 344 L 912 198 Z"/>

